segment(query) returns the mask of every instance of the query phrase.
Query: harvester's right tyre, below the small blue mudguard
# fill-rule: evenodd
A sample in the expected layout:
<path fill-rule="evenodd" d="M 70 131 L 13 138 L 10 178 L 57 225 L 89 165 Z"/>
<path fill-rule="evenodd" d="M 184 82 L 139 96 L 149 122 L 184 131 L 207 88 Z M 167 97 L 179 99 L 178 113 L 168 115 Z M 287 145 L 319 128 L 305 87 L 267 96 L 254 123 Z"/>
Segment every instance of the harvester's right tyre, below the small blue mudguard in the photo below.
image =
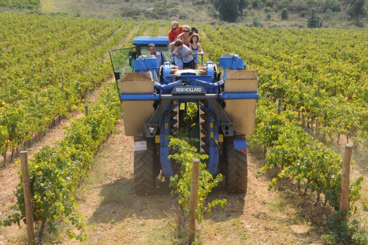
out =
<path fill-rule="evenodd" d="M 246 193 L 248 188 L 248 164 L 246 150 L 237 151 L 234 141 L 226 142 L 226 189 L 228 192 Z"/>

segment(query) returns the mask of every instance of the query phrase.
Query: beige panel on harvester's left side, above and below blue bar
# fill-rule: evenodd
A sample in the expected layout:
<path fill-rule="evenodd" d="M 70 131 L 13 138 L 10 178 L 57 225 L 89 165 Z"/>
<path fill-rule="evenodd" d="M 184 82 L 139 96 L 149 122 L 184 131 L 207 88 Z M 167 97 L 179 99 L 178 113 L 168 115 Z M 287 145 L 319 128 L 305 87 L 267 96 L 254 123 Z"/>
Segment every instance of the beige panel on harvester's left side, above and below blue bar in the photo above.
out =
<path fill-rule="evenodd" d="M 147 73 L 124 73 L 122 94 L 153 94 L 153 81 Z M 126 136 L 144 131 L 144 125 L 154 112 L 153 101 L 123 101 L 122 114 Z"/>

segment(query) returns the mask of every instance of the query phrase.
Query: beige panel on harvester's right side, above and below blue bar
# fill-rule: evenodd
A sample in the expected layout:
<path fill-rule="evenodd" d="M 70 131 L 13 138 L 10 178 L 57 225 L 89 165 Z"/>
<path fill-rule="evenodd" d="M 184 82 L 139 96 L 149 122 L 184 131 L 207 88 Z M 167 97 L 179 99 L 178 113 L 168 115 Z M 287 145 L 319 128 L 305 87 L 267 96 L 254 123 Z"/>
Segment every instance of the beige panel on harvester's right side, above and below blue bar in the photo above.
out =
<path fill-rule="evenodd" d="M 258 71 L 226 71 L 225 93 L 257 93 Z M 234 123 L 234 129 L 244 135 L 254 133 L 257 100 L 225 100 L 225 113 Z"/>

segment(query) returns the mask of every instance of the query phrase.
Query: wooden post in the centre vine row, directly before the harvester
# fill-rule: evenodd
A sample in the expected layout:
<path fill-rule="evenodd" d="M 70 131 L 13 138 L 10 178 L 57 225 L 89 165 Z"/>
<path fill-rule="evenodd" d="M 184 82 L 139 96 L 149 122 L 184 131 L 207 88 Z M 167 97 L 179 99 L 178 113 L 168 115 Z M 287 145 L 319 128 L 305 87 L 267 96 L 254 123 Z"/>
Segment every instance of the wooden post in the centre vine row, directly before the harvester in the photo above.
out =
<path fill-rule="evenodd" d="M 188 233 L 189 244 L 192 244 L 192 242 L 195 241 L 198 178 L 199 178 L 199 159 L 194 159 L 192 170 L 191 193 L 189 198 L 189 233 Z"/>

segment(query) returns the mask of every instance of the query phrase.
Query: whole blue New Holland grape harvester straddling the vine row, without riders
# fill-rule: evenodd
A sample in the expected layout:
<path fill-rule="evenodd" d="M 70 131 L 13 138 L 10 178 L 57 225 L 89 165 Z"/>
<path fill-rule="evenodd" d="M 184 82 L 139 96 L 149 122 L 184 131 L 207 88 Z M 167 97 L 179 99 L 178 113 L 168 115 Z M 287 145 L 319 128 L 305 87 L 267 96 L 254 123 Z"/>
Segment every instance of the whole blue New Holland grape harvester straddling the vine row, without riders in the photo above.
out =
<path fill-rule="evenodd" d="M 189 103 L 197 108 L 192 135 L 199 140 L 198 150 L 209 155 L 207 169 L 213 175 L 223 172 L 229 191 L 246 192 L 245 135 L 254 130 L 257 71 L 245 71 L 243 59 L 235 54 L 198 70 L 177 70 L 170 62 L 158 67 L 157 58 L 147 52 L 150 43 L 170 60 L 167 37 L 135 37 L 134 48 L 110 51 L 125 132 L 134 136 L 135 192 L 152 191 L 160 170 L 167 179 L 178 173 L 168 159 L 166 136 L 175 137 L 183 127 Z"/>

